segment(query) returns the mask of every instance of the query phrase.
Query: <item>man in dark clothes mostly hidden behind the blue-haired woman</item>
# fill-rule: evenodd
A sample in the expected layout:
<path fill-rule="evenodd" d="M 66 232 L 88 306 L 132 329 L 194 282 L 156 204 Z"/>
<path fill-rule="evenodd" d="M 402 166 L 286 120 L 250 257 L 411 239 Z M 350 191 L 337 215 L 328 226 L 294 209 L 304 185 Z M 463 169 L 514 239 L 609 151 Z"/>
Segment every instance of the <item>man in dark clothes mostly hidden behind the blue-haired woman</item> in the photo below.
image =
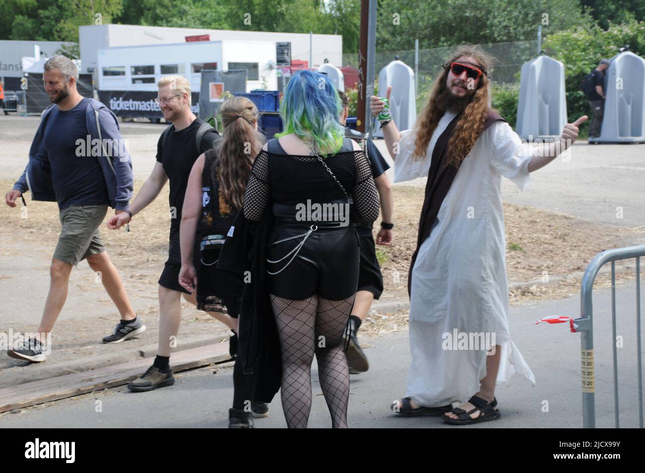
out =
<path fill-rule="evenodd" d="M 349 101 L 344 92 L 338 92 L 341 97 L 342 113 L 339 117 L 341 124 L 347 121 Z M 370 160 L 372 167 L 372 177 L 379 192 L 381 200 L 381 229 L 376 236 L 376 244 L 390 245 L 392 243 L 392 213 L 394 207 L 394 198 L 392 187 L 385 172 L 390 165 L 385 161 L 377 147 L 371 139 L 366 140 L 365 154 Z M 359 284 L 356 290 L 356 298 L 350 316 L 350 333 L 346 334 L 349 339 L 347 348 L 347 364 L 351 374 L 365 372 L 370 368 L 367 357 L 362 351 L 356 334 L 364 321 L 374 299 L 381 297 L 383 292 L 383 276 L 381 267 L 376 257 L 376 248 L 372 236 L 372 223 L 359 223 L 354 225 L 361 240 L 361 260 L 359 266 Z"/>

